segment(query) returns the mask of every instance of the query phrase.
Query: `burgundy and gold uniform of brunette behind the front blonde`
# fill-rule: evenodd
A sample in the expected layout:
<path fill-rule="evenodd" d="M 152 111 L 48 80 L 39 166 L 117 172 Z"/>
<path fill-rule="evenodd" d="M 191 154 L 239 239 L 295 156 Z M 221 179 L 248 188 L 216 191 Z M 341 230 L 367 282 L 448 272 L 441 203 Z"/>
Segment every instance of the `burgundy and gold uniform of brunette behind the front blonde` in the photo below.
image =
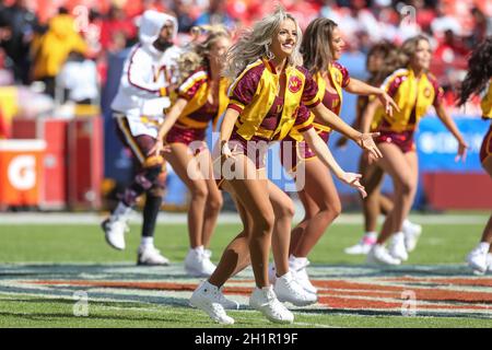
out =
<path fill-rule="evenodd" d="M 318 72 L 313 78 L 319 89 L 318 97 L 325 107 L 339 116 L 343 98 L 342 89 L 350 83 L 350 74 L 347 68 L 338 62 L 333 62 L 328 69 L 328 79 L 330 79 L 331 84 L 337 91 L 335 93 L 327 90 L 327 82 L 321 73 Z M 317 120 L 317 118 L 314 118 L 313 126 L 319 137 L 325 142 L 328 142 L 331 128 L 324 125 L 323 121 Z M 295 130 L 293 130 L 289 137 L 282 141 L 281 161 L 282 165 L 284 165 L 288 170 L 295 170 L 298 162 L 314 159 L 315 156 L 315 152 L 309 149 L 306 141 L 304 141 L 302 136 Z"/>

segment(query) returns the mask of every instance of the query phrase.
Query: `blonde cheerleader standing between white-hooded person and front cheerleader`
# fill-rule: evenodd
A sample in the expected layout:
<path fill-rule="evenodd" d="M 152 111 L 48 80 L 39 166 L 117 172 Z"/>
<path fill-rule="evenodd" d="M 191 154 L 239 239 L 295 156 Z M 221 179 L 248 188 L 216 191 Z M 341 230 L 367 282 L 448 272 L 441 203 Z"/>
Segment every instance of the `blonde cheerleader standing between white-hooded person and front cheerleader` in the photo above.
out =
<path fill-rule="evenodd" d="M 199 28 L 195 28 L 197 31 Z M 212 174 L 212 159 L 207 148 L 206 131 L 215 128 L 229 103 L 229 81 L 221 78 L 224 56 L 231 36 L 222 26 L 208 27 L 201 43 L 179 60 L 183 79 L 177 100 L 162 124 L 151 154 L 161 154 L 191 192 L 188 209 L 190 248 L 185 259 L 186 271 L 194 277 L 209 277 L 215 266 L 207 249 L 222 207 L 222 195 Z"/>

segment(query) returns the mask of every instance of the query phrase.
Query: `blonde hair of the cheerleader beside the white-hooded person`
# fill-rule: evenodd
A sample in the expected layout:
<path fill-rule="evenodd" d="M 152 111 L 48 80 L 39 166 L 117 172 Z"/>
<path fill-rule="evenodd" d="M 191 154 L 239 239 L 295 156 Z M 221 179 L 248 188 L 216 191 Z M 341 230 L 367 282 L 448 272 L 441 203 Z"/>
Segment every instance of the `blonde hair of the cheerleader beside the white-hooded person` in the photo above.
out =
<path fill-rule="evenodd" d="M 231 39 L 231 33 L 222 25 L 194 26 L 190 34 L 192 40 L 188 44 L 187 51 L 177 60 L 179 83 L 183 83 L 198 68 L 209 68 L 208 55 L 219 39 Z M 202 34 L 206 34 L 207 37 L 200 40 Z"/>

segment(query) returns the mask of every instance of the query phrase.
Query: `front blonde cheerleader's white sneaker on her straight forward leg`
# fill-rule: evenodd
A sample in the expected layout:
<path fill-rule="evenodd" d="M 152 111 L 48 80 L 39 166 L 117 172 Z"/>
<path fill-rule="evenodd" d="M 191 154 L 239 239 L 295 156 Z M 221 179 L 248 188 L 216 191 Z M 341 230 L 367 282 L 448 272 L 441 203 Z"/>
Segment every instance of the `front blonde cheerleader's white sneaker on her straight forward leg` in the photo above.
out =
<path fill-rule="evenodd" d="M 294 322 L 294 314 L 279 302 L 271 285 L 262 289 L 255 288 L 249 298 L 249 306 L 261 312 L 271 322 L 281 324 Z"/>

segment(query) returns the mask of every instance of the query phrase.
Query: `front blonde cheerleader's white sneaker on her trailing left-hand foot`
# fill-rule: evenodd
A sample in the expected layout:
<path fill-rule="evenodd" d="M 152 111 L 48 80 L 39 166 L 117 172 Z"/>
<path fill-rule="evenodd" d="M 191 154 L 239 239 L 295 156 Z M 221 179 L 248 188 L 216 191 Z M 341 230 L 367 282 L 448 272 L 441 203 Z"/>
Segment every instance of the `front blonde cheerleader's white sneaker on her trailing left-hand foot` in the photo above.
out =
<path fill-rule="evenodd" d="M 234 324 L 234 318 L 227 316 L 220 300 L 223 298 L 220 289 L 209 281 L 201 282 L 191 294 L 189 304 L 204 311 L 214 322 L 223 325 Z"/>

